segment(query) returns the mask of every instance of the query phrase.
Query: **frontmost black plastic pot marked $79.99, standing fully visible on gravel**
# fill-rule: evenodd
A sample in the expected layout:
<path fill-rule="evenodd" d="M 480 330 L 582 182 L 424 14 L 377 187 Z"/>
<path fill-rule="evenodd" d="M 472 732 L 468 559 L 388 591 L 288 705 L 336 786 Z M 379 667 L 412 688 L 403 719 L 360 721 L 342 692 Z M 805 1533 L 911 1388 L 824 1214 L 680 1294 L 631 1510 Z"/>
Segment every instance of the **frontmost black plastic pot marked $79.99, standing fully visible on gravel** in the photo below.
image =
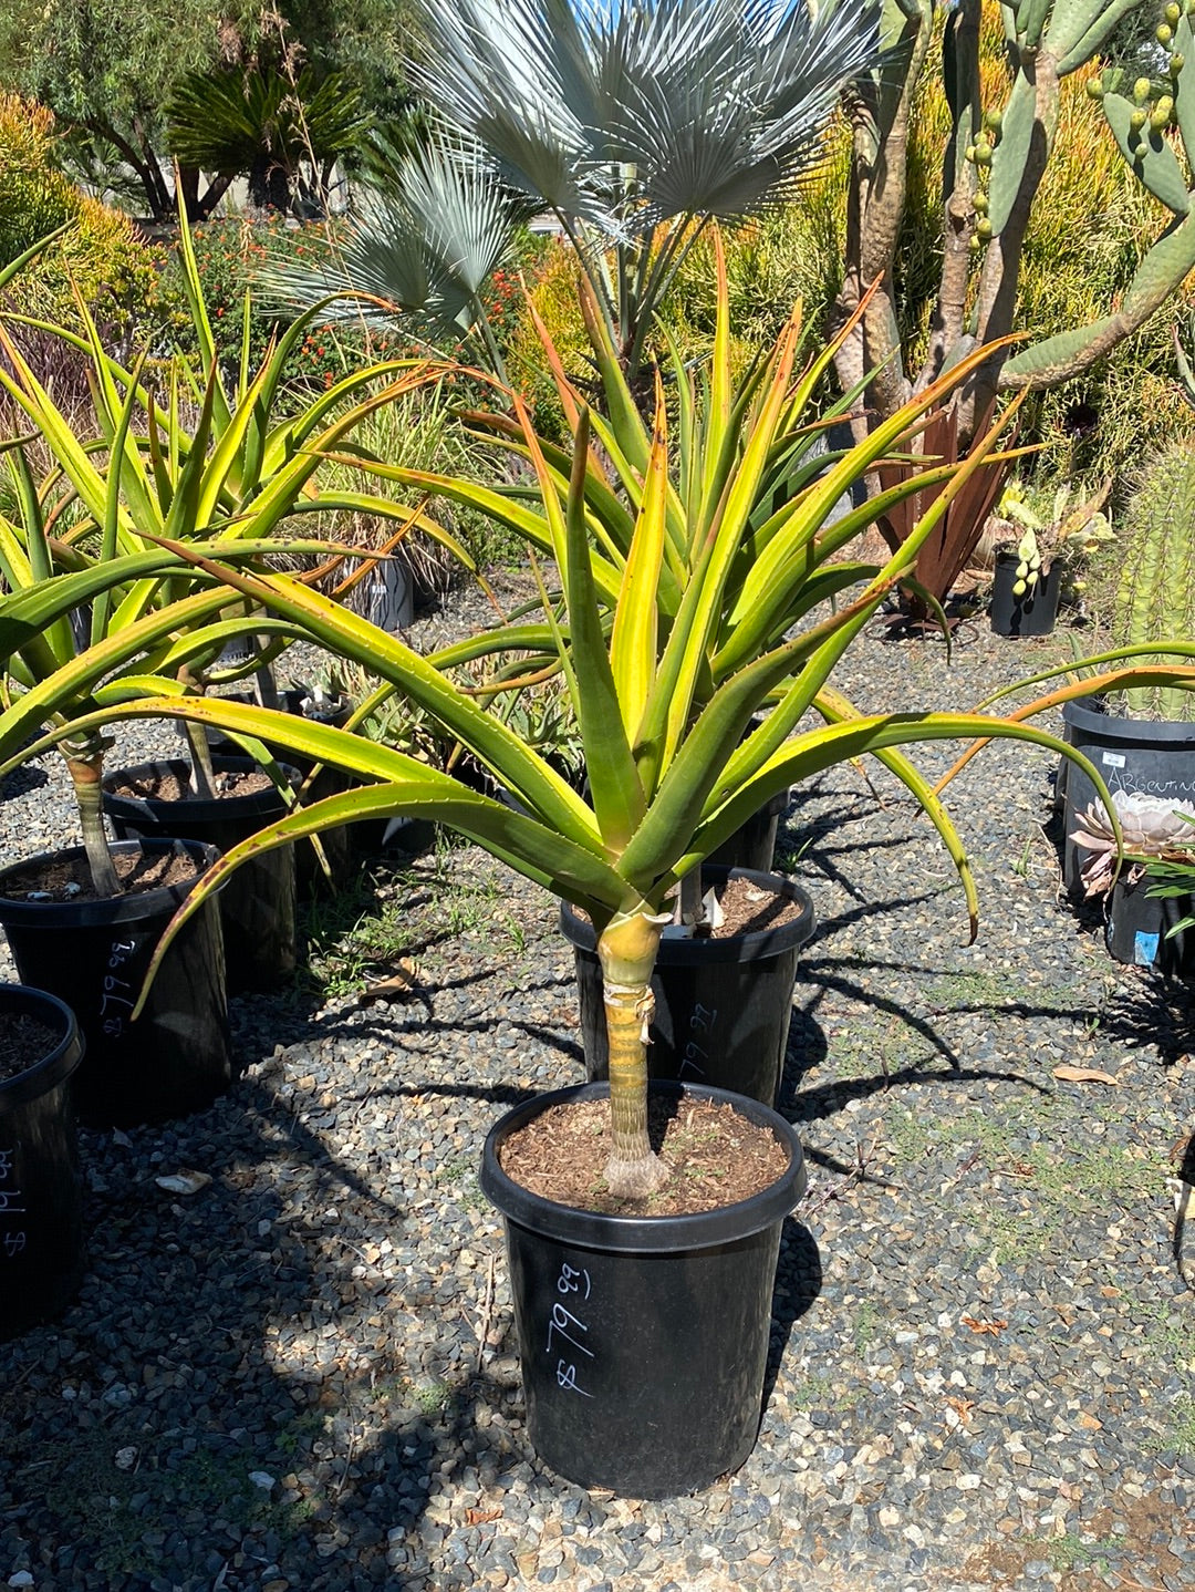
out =
<path fill-rule="evenodd" d="M 721 1089 L 656 1084 L 730 1102 L 789 1153 L 762 1194 L 695 1216 L 603 1216 L 514 1183 L 503 1141 L 551 1105 L 541 1095 L 485 1140 L 481 1186 L 506 1218 L 527 1425 L 539 1458 L 582 1487 L 635 1498 L 697 1492 L 754 1447 L 780 1231 L 805 1191 L 794 1129 Z"/>

